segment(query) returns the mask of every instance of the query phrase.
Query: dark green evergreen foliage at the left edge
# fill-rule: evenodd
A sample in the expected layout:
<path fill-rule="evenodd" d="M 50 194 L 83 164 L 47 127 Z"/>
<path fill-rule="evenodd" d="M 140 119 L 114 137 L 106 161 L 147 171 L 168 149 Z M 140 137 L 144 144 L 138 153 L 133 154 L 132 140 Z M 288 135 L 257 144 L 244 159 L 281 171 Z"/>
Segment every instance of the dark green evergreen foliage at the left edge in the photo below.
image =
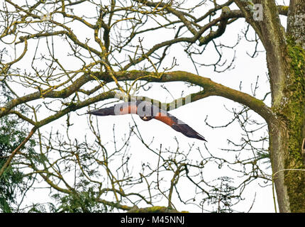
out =
<path fill-rule="evenodd" d="M 5 90 L 4 87 L 2 88 Z M 5 97 L 6 101 L 11 100 L 9 92 L 4 92 L 1 96 Z M 19 107 L 19 111 L 26 114 L 25 106 Z M 0 119 L 0 123 L 0 168 L 2 169 L 4 164 L 8 162 L 11 150 L 15 150 L 20 145 L 28 132 L 22 127 L 24 122 L 17 117 L 4 116 Z M 31 153 L 34 145 L 35 141 L 30 140 L 21 150 Z M 23 200 L 30 185 L 35 181 L 31 176 L 23 175 L 23 172 L 18 168 L 18 160 L 15 161 L 16 165 L 6 167 L 0 177 L 0 211 L 6 213 L 18 211 L 15 208 L 19 207 L 19 201 Z"/>

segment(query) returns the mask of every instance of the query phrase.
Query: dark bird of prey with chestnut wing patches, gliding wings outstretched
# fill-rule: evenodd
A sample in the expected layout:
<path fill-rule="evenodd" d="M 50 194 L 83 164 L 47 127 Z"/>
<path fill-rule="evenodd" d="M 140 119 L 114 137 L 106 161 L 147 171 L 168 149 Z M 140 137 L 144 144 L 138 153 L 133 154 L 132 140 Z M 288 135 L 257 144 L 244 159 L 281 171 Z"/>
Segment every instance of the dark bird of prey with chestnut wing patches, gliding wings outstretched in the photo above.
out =
<path fill-rule="evenodd" d="M 108 108 L 89 111 L 87 114 L 94 114 L 98 116 L 138 114 L 143 121 L 150 121 L 151 119 L 155 118 L 156 120 L 166 123 L 175 131 L 178 131 L 189 138 L 196 138 L 206 141 L 202 135 L 194 131 L 194 129 L 188 126 L 186 123 L 180 121 L 175 116 L 172 116 L 172 114 L 167 113 L 167 111 L 159 109 L 159 107 L 151 104 L 148 101 L 128 101 Z"/>

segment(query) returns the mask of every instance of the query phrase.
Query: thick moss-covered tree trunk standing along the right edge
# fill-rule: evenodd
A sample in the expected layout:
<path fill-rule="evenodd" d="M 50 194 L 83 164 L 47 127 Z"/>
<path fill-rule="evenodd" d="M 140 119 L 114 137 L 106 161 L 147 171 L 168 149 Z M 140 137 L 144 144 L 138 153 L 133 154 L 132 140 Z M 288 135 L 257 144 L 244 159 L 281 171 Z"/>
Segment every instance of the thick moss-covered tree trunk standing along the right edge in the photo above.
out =
<path fill-rule="evenodd" d="M 284 43 L 279 40 L 265 45 L 275 113 L 275 119 L 268 122 L 270 153 L 281 212 L 305 212 L 305 162 L 301 148 L 305 137 L 304 16 L 305 1 L 290 1 Z"/>

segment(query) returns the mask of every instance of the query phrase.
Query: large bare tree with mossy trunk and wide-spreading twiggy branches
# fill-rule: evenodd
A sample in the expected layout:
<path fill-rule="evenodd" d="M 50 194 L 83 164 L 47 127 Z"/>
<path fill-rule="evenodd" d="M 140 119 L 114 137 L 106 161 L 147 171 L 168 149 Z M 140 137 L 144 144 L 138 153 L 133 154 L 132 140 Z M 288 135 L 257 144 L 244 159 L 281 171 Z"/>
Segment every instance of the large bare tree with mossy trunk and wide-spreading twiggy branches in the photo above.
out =
<path fill-rule="evenodd" d="M 245 150 L 245 145 L 249 145 L 256 154 L 248 162 L 247 159 L 238 158 L 234 162 L 253 167 L 250 170 L 252 174 L 242 185 L 245 186 L 257 177 L 272 179 L 279 211 L 304 212 L 304 11 L 305 3 L 301 0 L 291 0 L 287 6 L 273 0 L 109 0 L 108 3 L 47 0 L 28 1 L 27 4 L 4 1 L 1 5 L 0 39 L 4 45 L 1 50 L 0 79 L 2 86 L 13 94 L 13 99 L 1 104 L 0 117 L 14 114 L 28 123 L 31 130 L 20 146 L 12 150 L 0 175 L 3 175 L 13 159 L 23 159 L 23 165 L 30 168 L 33 174 L 40 175 L 50 187 L 70 196 L 70 199 L 55 196 L 66 204 L 67 201 L 70 203 L 69 206 L 62 206 L 62 211 L 67 211 L 71 204 L 77 204 L 79 211 L 92 211 L 88 209 L 91 207 L 89 204 L 96 203 L 105 206 L 104 209 L 112 207 L 131 210 L 132 206 L 124 204 L 126 199 L 135 206 L 138 200 L 153 205 L 151 199 L 157 196 L 167 199 L 167 209 L 174 209 L 172 193 L 177 190 L 180 177 L 185 177 L 201 193 L 209 195 L 201 186 L 202 182 L 196 181 L 196 177 L 202 177 L 202 168 L 206 162 L 214 160 L 224 163 L 228 160 L 211 155 L 209 158 L 202 157 L 201 162 L 194 164 L 185 155 L 185 151 L 178 149 L 179 146 L 177 153 L 161 146 L 160 149 L 153 150 L 141 137 L 136 125 L 131 127 L 131 133 L 123 139 L 122 148 L 115 146 L 113 151 L 104 148 L 99 131 L 94 128 L 91 119 L 89 127 L 95 135 L 94 146 L 87 140 L 82 143 L 72 140 L 68 133 L 72 126 L 70 116 L 73 111 L 99 101 L 112 101 L 118 94 L 128 99 L 133 92 L 143 92 L 153 83 L 186 82 L 201 88 L 199 92 L 190 94 L 192 102 L 209 96 L 221 96 L 241 104 L 243 109 L 233 114 L 234 121 L 239 121 L 242 128 L 252 122 L 247 115 L 250 111 L 264 119 L 268 131 L 268 153 L 257 148 L 253 140 L 245 141 L 242 145 L 235 144 L 240 150 Z M 280 16 L 285 16 L 287 26 L 283 26 Z M 255 92 L 250 95 L 199 74 L 199 66 L 212 66 L 216 72 L 226 72 L 232 66 L 223 61 L 221 51 L 222 48 L 230 47 L 222 45 L 218 40 L 222 36 L 226 37 L 225 32 L 229 27 L 242 18 L 248 25 L 245 38 L 250 31 L 255 31 L 256 47 L 261 44 L 265 49 L 272 99 L 270 106 L 265 99 L 257 99 Z M 80 29 L 76 30 L 77 26 Z M 158 35 L 165 31 L 169 31 L 170 36 Z M 151 45 L 145 42 L 145 37 L 156 34 L 156 43 Z M 177 45 L 183 45 L 185 54 L 194 63 L 196 74 L 174 71 L 178 56 L 172 60 L 171 65 L 168 64 L 170 50 Z M 214 48 L 219 55 L 212 65 L 205 64 L 201 59 L 205 51 L 211 50 L 209 48 Z M 64 52 L 67 52 L 67 56 L 63 55 Z M 253 57 L 257 52 L 255 48 Z M 167 85 L 164 86 L 166 89 Z M 160 107 L 169 110 L 181 100 L 182 104 L 186 103 L 184 96 L 183 99 L 176 98 L 170 103 L 160 104 Z M 29 116 L 18 111 L 18 106 L 23 104 L 28 105 Z M 43 126 L 51 125 L 63 116 L 67 116 L 65 138 L 60 137 L 59 131 L 49 131 L 49 134 L 41 131 Z M 246 128 L 243 129 L 248 132 Z M 152 150 L 158 157 L 157 167 L 153 169 L 150 165 L 143 165 L 143 172 L 138 179 L 128 178 L 131 177 L 126 168 L 129 157 L 126 150 L 122 150 L 128 147 L 130 135 L 134 133 L 145 148 Z M 38 152 L 30 155 L 21 152 L 22 146 L 32 136 L 40 144 Z M 179 141 L 177 143 L 179 145 Z M 164 156 L 164 151 L 167 156 Z M 189 153 L 191 151 L 192 149 Z M 51 157 L 51 153 L 55 156 Z M 122 157 L 121 165 L 114 170 L 117 173 L 121 171 L 120 176 L 123 178 L 120 179 L 109 169 L 109 160 L 116 155 Z M 266 157 L 270 158 L 272 165 L 271 177 L 257 174 L 263 173 L 257 161 Z M 74 167 L 78 166 L 74 169 L 78 171 L 74 175 L 74 183 L 67 182 L 63 177 L 65 172 L 73 168 L 72 163 Z M 109 187 L 104 187 L 94 178 L 101 174 L 96 172 L 98 167 L 93 168 L 94 165 L 104 168 Z M 194 170 L 196 174 L 191 175 L 192 168 L 197 171 Z M 162 170 L 173 173 L 170 187 L 166 190 L 160 187 L 162 179 L 157 182 L 150 179 L 153 174 L 159 176 Z M 87 181 L 77 182 L 76 176 Z M 157 189 L 157 194 L 143 196 L 140 193 L 125 193 L 123 185 L 127 187 L 140 182 L 147 183 L 148 194 L 153 188 Z M 107 192 L 112 192 L 114 201 L 101 199 Z M 228 194 L 228 191 L 225 193 Z M 130 199 L 133 196 L 136 199 Z M 101 208 L 96 210 L 101 211 Z"/>

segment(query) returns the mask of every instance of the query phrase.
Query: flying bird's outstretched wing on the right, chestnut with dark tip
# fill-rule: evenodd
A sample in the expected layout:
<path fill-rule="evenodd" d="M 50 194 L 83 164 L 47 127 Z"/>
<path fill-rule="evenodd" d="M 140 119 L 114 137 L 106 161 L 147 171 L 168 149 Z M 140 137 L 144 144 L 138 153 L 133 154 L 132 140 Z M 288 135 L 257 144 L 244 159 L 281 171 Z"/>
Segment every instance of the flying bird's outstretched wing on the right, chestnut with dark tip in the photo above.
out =
<path fill-rule="evenodd" d="M 157 115 L 154 116 L 154 118 L 156 120 L 162 121 L 163 123 L 166 123 L 168 126 L 172 127 L 175 131 L 178 131 L 189 138 L 196 138 L 199 140 L 206 141 L 204 136 L 194 131 L 194 129 L 191 128 L 189 125 L 187 125 L 187 123 L 184 123 L 183 121 L 179 120 L 175 116 L 172 116 L 172 114 L 169 114 L 166 111 L 160 109 L 160 112 L 157 113 Z"/>

